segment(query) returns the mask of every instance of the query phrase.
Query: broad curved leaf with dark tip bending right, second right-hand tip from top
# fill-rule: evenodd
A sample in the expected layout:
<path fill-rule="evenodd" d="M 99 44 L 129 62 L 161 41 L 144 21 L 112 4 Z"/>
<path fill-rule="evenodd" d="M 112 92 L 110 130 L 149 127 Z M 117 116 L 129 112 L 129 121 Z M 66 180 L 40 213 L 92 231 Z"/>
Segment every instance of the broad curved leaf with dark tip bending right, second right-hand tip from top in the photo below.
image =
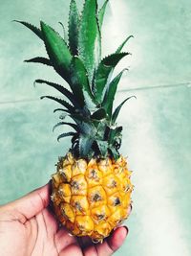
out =
<path fill-rule="evenodd" d="M 107 83 L 114 71 L 114 68 L 117 66 L 117 63 L 127 55 L 129 55 L 129 53 L 113 54 L 103 58 L 99 63 L 94 84 L 95 98 L 99 104 L 103 101 Z"/>

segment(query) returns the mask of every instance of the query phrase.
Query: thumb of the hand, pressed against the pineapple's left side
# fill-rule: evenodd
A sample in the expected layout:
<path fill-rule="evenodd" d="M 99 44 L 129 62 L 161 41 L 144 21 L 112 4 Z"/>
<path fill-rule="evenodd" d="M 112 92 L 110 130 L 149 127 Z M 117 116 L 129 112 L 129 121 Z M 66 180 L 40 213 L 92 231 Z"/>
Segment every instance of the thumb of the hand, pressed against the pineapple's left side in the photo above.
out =
<path fill-rule="evenodd" d="M 32 191 L 23 198 L 12 201 L 7 206 L 29 220 L 48 206 L 49 189 L 50 185 L 48 183 L 47 185 Z"/>

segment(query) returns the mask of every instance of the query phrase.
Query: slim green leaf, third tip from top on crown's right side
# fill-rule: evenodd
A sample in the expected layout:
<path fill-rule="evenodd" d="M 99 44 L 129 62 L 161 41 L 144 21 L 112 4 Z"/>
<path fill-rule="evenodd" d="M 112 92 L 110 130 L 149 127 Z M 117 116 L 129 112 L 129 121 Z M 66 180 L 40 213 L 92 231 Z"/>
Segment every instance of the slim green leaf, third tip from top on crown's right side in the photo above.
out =
<path fill-rule="evenodd" d="M 117 93 L 117 85 L 118 82 L 120 81 L 122 74 L 124 73 L 124 71 L 126 71 L 127 69 L 123 69 L 118 75 L 117 77 L 111 81 L 109 83 L 108 89 L 105 93 L 105 97 L 102 103 L 102 107 L 105 109 L 106 113 L 109 116 L 109 119 L 111 119 L 112 116 L 112 109 L 113 109 L 113 104 L 114 104 L 114 99 L 115 99 L 115 95 Z"/>

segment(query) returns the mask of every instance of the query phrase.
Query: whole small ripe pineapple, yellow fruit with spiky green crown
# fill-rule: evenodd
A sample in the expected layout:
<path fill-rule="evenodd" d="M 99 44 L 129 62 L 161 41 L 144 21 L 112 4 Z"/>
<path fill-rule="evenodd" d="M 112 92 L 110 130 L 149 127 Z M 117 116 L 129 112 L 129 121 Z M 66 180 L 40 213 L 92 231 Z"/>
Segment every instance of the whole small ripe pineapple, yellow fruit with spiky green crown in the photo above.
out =
<path fill-rule="evenodd" d="M 64 96 L 41 97 L 62 105 L 54 110 L 64 113 L 54 128 L 72 128 L 58 136 L 58 140 L 71 136 L 72 146 L 58 158 L 51 199 L 57 220 L 74 236 L 89 236 L 94 242 L 102 242 L 118 223 L 127 219 L 133 191 L 127 161 L 118 151 L 122 127 L 117 126 L 120 108 L 131 97 L 113 110 L 117 85 L 125 69 L 112 79 L 117 63 L 129 55 L 121 51 L 132 35 L 114 54 L 101 58 L 101 26 L 107 3 L 108 0 L 98 10 L 96 0 L 85 0 L 79 15 L 72 0 L 68 36 L 63 37 L 42 21 L 39 29 L 15 20 L 44 42 L 48 54 L 48 58 L 25 61 L 53 67 L 70 86 L 67 89 L 51 81 L 35 81 L 52 86 Z"/>

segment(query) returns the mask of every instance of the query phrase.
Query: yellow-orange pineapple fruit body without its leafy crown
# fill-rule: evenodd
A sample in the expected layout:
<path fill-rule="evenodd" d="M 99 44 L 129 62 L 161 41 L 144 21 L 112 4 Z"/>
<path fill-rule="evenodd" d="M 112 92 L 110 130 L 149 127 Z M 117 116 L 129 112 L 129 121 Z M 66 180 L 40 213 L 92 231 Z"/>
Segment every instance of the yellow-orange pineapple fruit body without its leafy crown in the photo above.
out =
<path fill-rule="evenodd" d="M 68 152 L 56 166 L 51 197 L 56 219 L 74 236 L 102 243 L 129 215 L 133 185 L 126 159 L 87 161 Z"/>

